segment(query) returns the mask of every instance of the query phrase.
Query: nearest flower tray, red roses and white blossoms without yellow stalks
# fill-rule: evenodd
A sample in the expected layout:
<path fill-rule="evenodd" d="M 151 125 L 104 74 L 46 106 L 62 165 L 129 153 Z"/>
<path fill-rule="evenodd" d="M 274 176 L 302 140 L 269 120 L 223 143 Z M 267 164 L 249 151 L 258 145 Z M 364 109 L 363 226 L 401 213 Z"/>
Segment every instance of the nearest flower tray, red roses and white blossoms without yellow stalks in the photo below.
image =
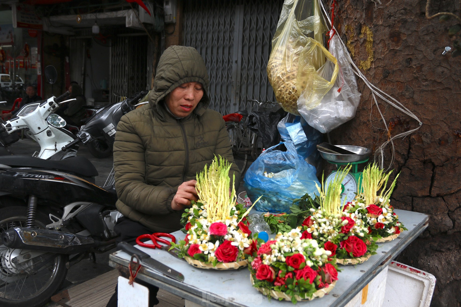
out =
<path fill-rule="evenodd" d="M 279 300 L 312 300 L 331 291 L 338 279 L 331 251 L 302 238 L 301 227 L 279 232 L 250 257 L 251 282 L 261 293 Z"/>

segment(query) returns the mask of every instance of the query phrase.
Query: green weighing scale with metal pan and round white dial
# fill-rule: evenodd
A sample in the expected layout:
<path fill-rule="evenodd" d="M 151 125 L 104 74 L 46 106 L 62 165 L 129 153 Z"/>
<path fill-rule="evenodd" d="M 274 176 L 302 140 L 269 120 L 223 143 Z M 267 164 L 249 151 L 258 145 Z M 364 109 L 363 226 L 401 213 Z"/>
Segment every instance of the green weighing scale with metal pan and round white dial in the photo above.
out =
<path fill-rule="evenodd" d="M 341 150 L 342 149 L 342 150 Z M 366 147 L 352 145 L 336 145 L 332 146 L 327 143 L 317 145 L 317 150 L 322 158 L 331 164 L 336 164 L 338 170 L 343 166 L 352 164 L 352 168 L 341 183 L 341 203 L 344 199 L 347 202 L 354 200 L 356 193 L 360 190 L 359 182 L 362 181 L 362 172 L 358 172 L 358 165 L 368 161 L 371 150 Z M 341 153 L 340 153 L 341 152 Z M 337 171 L 331 172 L 325 180 L 325 190 L 331 180 L 335 178 Z"/>

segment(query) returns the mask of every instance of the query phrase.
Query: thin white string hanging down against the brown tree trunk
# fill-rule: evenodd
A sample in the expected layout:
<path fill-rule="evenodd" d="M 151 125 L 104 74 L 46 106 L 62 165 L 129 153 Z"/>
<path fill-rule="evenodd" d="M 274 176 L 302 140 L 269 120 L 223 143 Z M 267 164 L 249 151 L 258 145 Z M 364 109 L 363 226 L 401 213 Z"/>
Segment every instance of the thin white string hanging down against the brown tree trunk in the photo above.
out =
<path fill-rule="evenodd" d="M 335 0 L 333 0 L 333 5 L 334 5 L 334 2 L 336 2 Z M 320 3 L 320 6 L 322 7 L 322 10 L 326 16 L 326 18 L 328 19 L 328 22 L 331 24 L 331 29 L 334 29 L 335 32 L 336 31 L 336 28 L 335 26 L 333 25 L 332 23 L 332 20 L 333 20 L 333 14 L 332 14 L 332 18 L 330 20 L 330 17 L 328 16 L 328 13 L 326 11 L 326 8 L 325 8 L 325 5 L 323 3 L 323 1 L 319 0 L 319 3 Z M 339 37 L 339 36 L 338 36 Z M 331 38 L 330 38 L 331 39 Z M 347 47 L 346 45 L 344 44 L 343 40 L 341 39 L 341 37 L 339 37 L 339 41 L 341 42 L 344 50 L 347 50 Z M 391 97 L 389 94 L 387 93 L 384 93 L 384 91 L 382 91 L 381 89 L 379 89 L 378 87 L 376 87 L 375 85 L 373 85 L 370 81 L 368 81 L 368 79 L 366 79 L 366 76 L 363 75 L 363 73 L 359 70 L 359 68 L 355 65 L 354 61 L 352 60 L 349 52 L 345 52 L 346 54 L 346 57 L 347 57 L 347 60 L 348 62 L 352 65 L 352 67 L 354 68 L 354 73 L 359 77 L 361 78 L 364 82 L 365 82 L 365 85 L 372 91 L 372 101 L 374 101 L 374 103 L 376 104 L 376 107 L 378 108 L 378 112 L 379 112 L 379 115 L 381 116 L 381 119 L 383 120 L 384 122 L 384 126 L 386 128 L 386 131 L 388 132 L 388 134 L 390 135 L 390 131 L 389 131 L 389 127 L 387 126 L 387 123 L 386 123 L 386 120 L 384 119 L 384 115 L 383 113 L 381 112 L 381 110 L 379 109 L 379 106 L 378 106 L 378 100 L 376 99 L 376 96 L 378 96 L 379 98 L 381 98 L 382 100 L 384 100 L 385 102 L 387 102 L 388 104 L 392 105 L 394 108 L 396 108 L 397 110 L 400 110 L 402 113 L 404 114 L 407 114 L 408 116 L 414 118 L 418 123 L 418 127 L 414 128 L 414 129 L 411 129 L 411 130 L 408 130 L 408 131 L 405 131 L 403 133 L 399 133 L 397 135 L 394 135 L 393 137 L 389 138 L 387 141 L 385 141 L 381 146 L 379 146 L 376 151 L 375 151 L 375 154 L 374 154 L 374 159 L 375 161 L 378 161 L 378 164 L 380 166 L 380 168 L 384 169 L 384 149 L 390 145 L 391 146 L 391 157 L 390 157 L 390 163 L 389 163 L 389 166 L 388 168 L 386 168 L 386 171 L 388 171 L 390 169 L 390 167 L 392 166 L 392 164 L 394 163 L 394 160 L 395 160 L 395 153 L 396 153 L 396 149 L 395 149 L 395 145 L 394 145 L 394 140 L 395 139 L 399 139 L 399 138 L 405 138 L 406 136 L 418 131 L 420 129 L 420 127 L 422 126 L 422 122 L 420 121 L 420 119 L 418 118 L 418 116 L 414 115 L 414 113 L 410 110 L 408 110 L 407 107 L 405 107 L 402 103 L 400 103 L 400 101 L 396 100 L 395 98 Z M 385 97 L 387 98 L 385 98 Z M 388 99 L 389 98 L 389 99 Z"/>

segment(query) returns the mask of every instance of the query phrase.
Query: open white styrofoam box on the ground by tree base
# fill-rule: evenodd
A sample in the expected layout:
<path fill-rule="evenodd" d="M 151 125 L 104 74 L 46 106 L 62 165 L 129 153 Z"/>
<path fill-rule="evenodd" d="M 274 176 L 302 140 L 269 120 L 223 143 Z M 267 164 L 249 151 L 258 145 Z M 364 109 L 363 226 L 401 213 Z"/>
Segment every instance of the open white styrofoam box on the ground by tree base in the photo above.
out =
<path fill-rule="evenodd" d="M 429 307 L 435 282 L 435 276 L 428 272 L 392 261 L 383 307 Z"/>

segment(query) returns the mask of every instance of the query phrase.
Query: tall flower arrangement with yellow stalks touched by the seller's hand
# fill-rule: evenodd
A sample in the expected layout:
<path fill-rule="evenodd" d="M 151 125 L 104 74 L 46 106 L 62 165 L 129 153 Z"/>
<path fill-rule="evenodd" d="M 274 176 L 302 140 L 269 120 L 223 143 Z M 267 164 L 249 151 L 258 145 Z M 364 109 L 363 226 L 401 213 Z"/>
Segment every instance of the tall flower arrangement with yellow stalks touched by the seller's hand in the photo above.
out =
<path fill-rule="evenodd" d="M 204 269 L 229 270 L 247 266 L 249 255 L 257 250 L 257 239 L 248 229 L 249 209 L 236 203 L 234 185 L 230 187 L 231 165 L 222 157 L 197 174 L 199 200 L 183 214 L 186 238 L 172 248 L 189 264 Z M 235 176 L 234 176 L 235 180 Z M 256 203 L 256 202 L 255 202 Z M 251 209 L 251 207 L 250 207 Z"/>

